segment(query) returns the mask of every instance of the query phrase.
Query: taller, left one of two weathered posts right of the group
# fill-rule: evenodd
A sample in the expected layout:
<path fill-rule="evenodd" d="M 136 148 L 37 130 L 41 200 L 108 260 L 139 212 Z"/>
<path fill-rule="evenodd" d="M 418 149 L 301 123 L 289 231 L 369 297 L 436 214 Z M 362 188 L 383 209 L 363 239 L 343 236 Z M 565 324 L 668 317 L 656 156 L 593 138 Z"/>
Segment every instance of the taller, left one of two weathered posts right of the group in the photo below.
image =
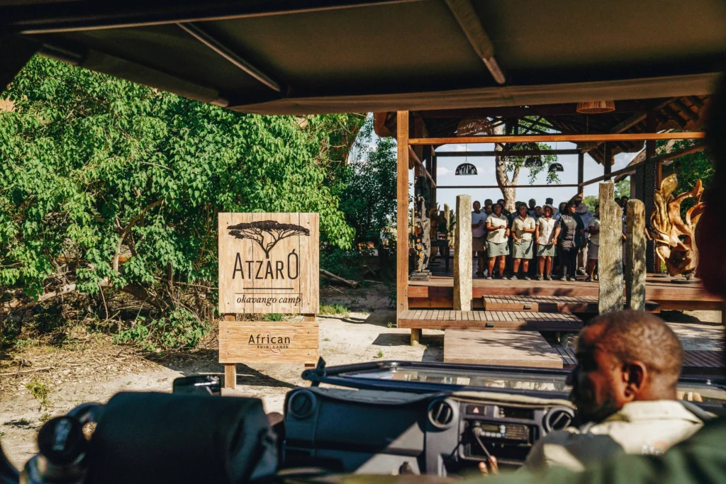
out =
<path fill-rule="evenodd" d="M 623 210 L 615 202 L 612 181 L 600 184 L 600 314 L 623 308 Z"/>

